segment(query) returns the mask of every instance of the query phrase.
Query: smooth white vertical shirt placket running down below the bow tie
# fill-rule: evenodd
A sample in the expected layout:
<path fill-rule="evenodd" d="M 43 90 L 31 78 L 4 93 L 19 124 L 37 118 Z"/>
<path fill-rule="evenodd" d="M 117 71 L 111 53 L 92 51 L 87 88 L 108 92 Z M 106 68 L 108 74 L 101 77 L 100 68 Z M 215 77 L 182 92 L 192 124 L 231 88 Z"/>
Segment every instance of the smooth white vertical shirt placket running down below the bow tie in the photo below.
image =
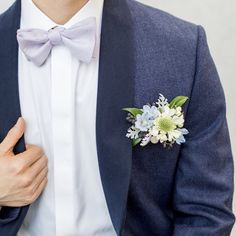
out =
<path fill-rule="evenodd" d="M 73 93 L 72 58 L 63 46 L 51 53 L 51 106 L 54 153 L 54 191 L 56 235 L 73 229 Z"/>

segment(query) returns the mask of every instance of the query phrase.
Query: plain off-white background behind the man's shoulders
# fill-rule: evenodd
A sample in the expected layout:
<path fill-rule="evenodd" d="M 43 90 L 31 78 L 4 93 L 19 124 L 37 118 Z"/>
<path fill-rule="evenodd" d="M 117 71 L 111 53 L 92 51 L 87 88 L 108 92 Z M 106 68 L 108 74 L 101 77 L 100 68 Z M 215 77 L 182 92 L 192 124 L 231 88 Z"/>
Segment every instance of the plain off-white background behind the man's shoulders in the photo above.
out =
<path fill-rule="evenodd" d="M 225 89 L 231 141 L 234 156 L 236 157 L 236 1 L 140 1 L 168 11 L 180 18 L 200 24 L 206 29 L 209 46 Z M 12 2 L 12 0 L 1 0 L 0 12 L 4 11 Z M 214 140 L 212 141 L 214 142 Z M 236 212 L 236 205 L 234 209 Z M 236 236 L 236 229 L 232 235 Z"/>

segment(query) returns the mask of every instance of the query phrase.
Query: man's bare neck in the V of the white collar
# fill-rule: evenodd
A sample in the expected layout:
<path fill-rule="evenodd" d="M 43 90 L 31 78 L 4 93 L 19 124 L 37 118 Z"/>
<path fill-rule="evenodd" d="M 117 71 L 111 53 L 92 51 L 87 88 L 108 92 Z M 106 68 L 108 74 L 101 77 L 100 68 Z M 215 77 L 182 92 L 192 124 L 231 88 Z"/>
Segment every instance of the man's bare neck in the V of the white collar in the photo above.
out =
<path fill-rule="evenodd" d="M 65 24 L 89 0 L 33 0 L 34 4 L 51 20 L 59 25 Z"/>

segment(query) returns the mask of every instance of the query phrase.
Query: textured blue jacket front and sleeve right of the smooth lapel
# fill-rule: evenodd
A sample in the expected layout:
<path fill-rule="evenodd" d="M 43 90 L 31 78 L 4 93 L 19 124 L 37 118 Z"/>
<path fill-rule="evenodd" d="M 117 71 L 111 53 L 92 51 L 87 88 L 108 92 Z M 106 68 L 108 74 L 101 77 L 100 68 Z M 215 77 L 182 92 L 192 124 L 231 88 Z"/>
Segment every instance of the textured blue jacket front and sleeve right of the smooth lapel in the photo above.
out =
<path fill-rule="evenodd" d="M 230 235 L 233 162 L 225 98 L 201 26 L 130 5 L 135 38 L 135 105 L 158 93 L 190 98 L 181 148 L 133 153 L 123 235 Z"/>

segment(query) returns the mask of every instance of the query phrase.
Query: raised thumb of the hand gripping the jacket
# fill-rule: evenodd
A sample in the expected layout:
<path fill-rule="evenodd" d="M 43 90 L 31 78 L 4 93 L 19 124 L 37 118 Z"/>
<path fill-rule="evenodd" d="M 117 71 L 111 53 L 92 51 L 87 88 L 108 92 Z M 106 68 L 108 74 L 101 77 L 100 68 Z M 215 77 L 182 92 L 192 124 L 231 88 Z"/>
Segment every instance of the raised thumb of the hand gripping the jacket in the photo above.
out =
<path fill-rule="evenodd" d="M 5 139 L 0 144 L 0 154 L 12 152 L 14 146 L 25 132 L 25 122 L 22 117 L 17 120 L 17 123 L 7 133 Z"/>

